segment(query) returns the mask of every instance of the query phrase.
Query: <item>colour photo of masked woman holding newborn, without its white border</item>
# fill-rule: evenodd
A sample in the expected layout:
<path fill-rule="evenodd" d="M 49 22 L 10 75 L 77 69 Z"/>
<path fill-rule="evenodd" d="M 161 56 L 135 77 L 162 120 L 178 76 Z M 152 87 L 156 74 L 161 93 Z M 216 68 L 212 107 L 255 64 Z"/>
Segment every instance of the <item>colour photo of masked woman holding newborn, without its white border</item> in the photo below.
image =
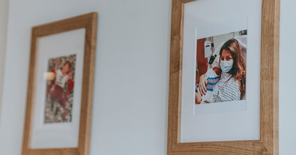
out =
<path fill-rule="evenodd" d="M 245 100 L 247 30 L 196 41 L 195 104 Z"/>

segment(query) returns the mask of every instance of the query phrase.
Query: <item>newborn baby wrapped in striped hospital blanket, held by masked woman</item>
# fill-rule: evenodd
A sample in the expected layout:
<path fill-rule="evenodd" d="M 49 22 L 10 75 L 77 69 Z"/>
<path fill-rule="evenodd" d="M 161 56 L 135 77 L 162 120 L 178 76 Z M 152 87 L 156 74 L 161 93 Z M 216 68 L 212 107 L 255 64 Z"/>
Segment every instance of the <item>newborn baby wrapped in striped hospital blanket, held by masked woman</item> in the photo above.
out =
<path fill-rule="evenodd" d="M 213 98 L 213 88 L 216 83 L 220 80 L 221 76 L 221 69 L 219 67 L 213 67 L 207 70 L 205 73 L 205 78 L 207 79 L 207 93 L 205 95 L 202 95 L 202 100 L 207 102 Z M 197 92 L 199 83 L 195 85 L 195 92 Z M 196 103 L 200 104 L 200 103 Z"/>

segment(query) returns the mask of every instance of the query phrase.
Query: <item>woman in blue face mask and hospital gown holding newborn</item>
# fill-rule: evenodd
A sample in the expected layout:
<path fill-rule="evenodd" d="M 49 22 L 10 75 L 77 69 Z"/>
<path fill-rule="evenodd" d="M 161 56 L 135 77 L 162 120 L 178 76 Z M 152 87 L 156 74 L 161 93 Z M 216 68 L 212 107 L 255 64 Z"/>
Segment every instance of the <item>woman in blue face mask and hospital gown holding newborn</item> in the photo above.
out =
<path fill-rule="evenodd" d="M 242 58 L 239 42 L 232 38 L 227 40 L 220 50 L 221 77 L 213 88 L 213 98 L 206 103 L 236 101 L 246 93 L 246 65 Z M 196 102 L 202 102 L 207 80 L 202 75 L 200 86 L 195 93 Z"/>

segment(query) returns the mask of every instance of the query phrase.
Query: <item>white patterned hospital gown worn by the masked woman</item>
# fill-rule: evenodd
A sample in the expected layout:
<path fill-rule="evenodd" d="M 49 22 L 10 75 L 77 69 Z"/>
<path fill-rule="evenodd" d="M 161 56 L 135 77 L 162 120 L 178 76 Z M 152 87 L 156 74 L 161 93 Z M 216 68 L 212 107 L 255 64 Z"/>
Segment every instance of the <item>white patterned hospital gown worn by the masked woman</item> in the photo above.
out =
<path fill-rule="evenodd" d="M 229 78 L 230 80 L 226 83 Z M 231 75 L 221 72 L 220 80 L 213 89 L 213 100 L 207 102 L 213 103 L 237 100 L 240 100 L 239 81 L 234 80 L 234 77 L 231 77 Z"/>

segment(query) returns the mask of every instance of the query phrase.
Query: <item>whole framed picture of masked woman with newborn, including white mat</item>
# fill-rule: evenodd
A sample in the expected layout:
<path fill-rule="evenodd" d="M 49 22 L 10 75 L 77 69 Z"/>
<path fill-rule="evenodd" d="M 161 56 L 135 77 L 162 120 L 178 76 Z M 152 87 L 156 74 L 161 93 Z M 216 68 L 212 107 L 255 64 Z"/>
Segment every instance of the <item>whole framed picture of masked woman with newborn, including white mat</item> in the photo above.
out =
<path fill-rule="evenodd" d="M 279 5 L 172 0 L 168 154 L 278 154 Z"/>

